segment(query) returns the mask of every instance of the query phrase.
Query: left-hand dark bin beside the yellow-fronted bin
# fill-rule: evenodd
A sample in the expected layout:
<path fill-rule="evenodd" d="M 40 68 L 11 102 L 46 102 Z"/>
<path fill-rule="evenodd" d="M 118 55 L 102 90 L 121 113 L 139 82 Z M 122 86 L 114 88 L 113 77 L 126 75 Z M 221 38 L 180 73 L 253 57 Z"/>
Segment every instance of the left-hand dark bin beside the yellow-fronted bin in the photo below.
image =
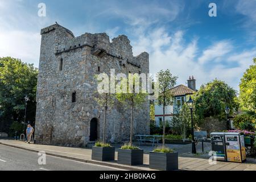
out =
<path fill-rule="evenodd" d="M 214 132 L 210 134 L 213 157 L 216 160 L 226 161 L 225 133 Z"/>

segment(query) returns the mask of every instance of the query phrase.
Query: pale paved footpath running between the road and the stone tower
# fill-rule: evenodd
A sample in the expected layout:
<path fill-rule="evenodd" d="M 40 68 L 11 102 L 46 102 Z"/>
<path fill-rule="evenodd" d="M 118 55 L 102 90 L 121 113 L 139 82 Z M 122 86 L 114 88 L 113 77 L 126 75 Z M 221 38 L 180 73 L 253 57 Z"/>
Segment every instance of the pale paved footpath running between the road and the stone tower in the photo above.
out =
<path fill-rule="evenodd" d="M 47 155 L 59 156 L 61 158 L 67 158 L 72 160 L 78 160 L 81 162 L 100 164 L 102 166 L 115 167 L 126 170 L 152 170 L 148 168 L 149 156 L 144 154 L 144 164 L 141 166 L 126 166 L 117 164 L 117 152 L 115 152 L 114 162 L 98 162 L 91 159 L 92 150 L 89 148 L 72 148 L 72 147 L 60 147 L 60 146 L 47 146 L 41 144 L 28 144 L 25 142 L 15 140 L 3 140 L 0 139 L 0 155 L 3 145 L 13 146 L 24 150 L 38 152 L 45 151 Z M 179 156 L 179 169 L 189 171 L 256 171 L 256 160 L 249 159 L 245 163 L 230 163 L 230 162 L 217 162 L 215 165 L 210 165 L 208 159 L 196 158 L 195 156 L 184 157 Z"/>

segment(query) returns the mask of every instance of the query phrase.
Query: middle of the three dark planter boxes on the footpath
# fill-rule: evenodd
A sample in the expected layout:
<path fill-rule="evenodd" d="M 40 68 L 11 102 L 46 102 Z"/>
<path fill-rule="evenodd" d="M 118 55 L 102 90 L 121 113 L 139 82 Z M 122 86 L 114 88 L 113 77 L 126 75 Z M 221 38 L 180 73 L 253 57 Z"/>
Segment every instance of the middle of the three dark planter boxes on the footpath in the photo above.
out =
<path fill-rule="evenodd" d="M 143 150 L 118 149 L 117 163 L 130 166 L 141 165 L 143 164 Z"/>

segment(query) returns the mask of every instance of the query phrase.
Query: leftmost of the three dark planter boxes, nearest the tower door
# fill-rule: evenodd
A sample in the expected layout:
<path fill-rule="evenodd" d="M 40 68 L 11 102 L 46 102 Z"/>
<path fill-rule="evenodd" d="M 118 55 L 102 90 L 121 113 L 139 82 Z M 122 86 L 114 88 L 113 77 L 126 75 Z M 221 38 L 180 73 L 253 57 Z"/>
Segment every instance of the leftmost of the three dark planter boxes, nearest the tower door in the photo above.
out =
<path fill-rule="evenodd" d="M 92 147 L 92 160 L 115 160 L 115 147 Z"/>

